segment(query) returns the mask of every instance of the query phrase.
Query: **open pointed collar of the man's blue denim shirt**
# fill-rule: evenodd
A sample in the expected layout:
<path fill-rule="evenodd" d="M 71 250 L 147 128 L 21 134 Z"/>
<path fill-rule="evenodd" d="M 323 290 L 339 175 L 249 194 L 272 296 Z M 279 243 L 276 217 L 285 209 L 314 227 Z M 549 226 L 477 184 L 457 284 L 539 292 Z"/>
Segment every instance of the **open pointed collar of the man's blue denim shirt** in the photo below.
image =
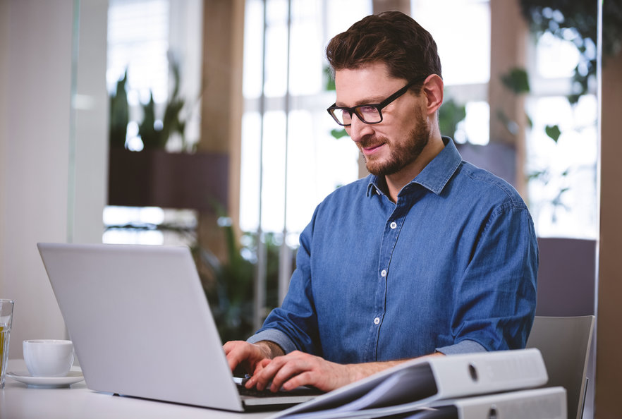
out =
<path fill-rule="evenodd" d="M 404 186 L 403 190 L 408 190 L 409 186 L 413 183 L 418 183 L 424 188 L 429 189 L 433 193 L 439 195 L 451 176 L 456 173 L 458 166 L 462 163 L 462 157 L 453 144 L 453 140 L 449 137 L 443 137 L 445 147 L 437 157 L 432 159 L 427 166 L 417 175 L 408 185 Z M 369 183 L 367 184 L 367 193 L 369 197 L 372 193 L 382 193 L 381 185 L 384 184 L 384 178 L 378 178 L 378 176 L 368 176 Z"/>

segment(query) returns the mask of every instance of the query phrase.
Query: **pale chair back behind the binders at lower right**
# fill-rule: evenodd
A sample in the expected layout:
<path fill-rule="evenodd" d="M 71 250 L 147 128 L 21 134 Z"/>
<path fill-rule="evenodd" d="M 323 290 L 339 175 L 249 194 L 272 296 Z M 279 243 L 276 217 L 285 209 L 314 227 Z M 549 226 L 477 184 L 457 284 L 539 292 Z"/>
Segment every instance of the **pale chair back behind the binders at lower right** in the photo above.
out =
<path fill-rule="evenodd" d="M 581 419 L 587 391 L 587 363 L 590 359 L 594 316 L 536 316 L 528 348 L 538 348 L 547 365 L 547 387 L 566 389 L 568 418 Z"/>

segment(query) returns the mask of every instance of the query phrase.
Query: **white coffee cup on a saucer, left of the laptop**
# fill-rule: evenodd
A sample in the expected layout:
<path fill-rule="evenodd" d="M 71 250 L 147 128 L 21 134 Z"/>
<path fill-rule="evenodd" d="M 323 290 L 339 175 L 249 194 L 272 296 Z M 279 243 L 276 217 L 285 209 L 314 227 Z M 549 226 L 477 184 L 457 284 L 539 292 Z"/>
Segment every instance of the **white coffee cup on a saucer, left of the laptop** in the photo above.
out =
<path fill-rule="evenodd" d="M 73 364 L 73 343 L 56 339 L 24 341 L 24 360 L 32 377 L 66 377 Z"/>

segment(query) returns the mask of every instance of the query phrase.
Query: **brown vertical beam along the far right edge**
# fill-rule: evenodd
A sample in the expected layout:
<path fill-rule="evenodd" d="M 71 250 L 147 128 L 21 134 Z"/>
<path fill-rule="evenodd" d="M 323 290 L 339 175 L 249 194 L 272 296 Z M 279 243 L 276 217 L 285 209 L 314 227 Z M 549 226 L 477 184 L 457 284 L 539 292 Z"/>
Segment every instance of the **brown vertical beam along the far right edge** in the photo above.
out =
<path fill-rule="evenodd" d="M 606 19 L 606 16 L 603 16 Z M 600 109 L 600 241 L 594 418 L 620 417 L 622 319 L 622 51 L 602 68 Z"/>

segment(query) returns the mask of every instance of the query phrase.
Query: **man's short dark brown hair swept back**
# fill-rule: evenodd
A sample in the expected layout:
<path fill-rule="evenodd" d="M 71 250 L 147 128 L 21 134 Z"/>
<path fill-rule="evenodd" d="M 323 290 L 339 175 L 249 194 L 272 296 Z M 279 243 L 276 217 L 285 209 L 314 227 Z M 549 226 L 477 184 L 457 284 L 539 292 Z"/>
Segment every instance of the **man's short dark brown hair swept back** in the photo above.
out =
<path fill-rule="evenodd" d="M 389 76 L 409 82 L 441 75 L 441 59 L 432 35 L 398 11 L 367 16 L 336 35 L 326 49 L 333 73 L 382 62 Z"/>

